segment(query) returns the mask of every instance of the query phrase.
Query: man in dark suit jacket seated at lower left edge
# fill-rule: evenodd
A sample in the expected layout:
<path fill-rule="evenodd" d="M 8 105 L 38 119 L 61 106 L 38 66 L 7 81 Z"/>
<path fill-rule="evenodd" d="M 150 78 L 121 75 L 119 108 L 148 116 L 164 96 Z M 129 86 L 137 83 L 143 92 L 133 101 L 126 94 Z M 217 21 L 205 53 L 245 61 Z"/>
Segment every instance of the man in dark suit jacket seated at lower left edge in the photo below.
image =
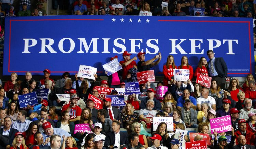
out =
<path fill-rule="evenodd" d="M 6 116 L 4 118 L 3 125 L 4 125 L 4 127 L 0 129 L 0 134 L 9 136 L 9 143 L 8 143 L 7 147 L 11 147 L 13 139 L 15 137 L 15 133 L 17 133 L 18 130 L 11 127 L 12 119 L 9 116 Z"/>

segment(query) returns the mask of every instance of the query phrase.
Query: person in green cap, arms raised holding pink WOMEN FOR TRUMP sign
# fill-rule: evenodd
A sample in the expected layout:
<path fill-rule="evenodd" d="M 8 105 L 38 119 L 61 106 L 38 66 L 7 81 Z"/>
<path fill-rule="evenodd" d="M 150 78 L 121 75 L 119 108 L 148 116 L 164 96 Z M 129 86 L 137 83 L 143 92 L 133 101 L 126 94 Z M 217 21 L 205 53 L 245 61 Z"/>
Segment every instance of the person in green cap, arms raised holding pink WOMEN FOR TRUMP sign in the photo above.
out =
<path fill-rule="evenodd" d="M 231 141 L 229 142 L 229 144 L 227 143 L 227 137 L 226 136 L 220 136 L 218 141 L 217 141 L 217 134 L 218 132 L 214 131 L 214 149 L 231 149 L 234 145 L 234 141 L 236 139 L 235 135 L 234 135 L 234 128 L 232 127 L 232 136 L 231 136 Z M 218 143 L 219 142 L 219 143 Z"/>

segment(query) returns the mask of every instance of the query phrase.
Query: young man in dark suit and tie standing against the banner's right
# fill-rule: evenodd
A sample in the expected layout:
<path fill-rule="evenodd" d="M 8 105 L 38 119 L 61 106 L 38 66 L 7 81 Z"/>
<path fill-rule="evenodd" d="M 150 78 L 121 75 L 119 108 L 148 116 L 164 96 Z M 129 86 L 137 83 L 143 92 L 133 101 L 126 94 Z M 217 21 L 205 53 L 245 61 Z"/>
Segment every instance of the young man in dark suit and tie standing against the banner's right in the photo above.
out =
<path fill-rule="evenodd" d="M 218 81 L 221 88 L 225 88 L 226 77 L 228 76 L 228 67 L 222 57 L 215 58 L 213 50 L 207 51 L 208 61 L 208 74 L 212 80 Z"/>

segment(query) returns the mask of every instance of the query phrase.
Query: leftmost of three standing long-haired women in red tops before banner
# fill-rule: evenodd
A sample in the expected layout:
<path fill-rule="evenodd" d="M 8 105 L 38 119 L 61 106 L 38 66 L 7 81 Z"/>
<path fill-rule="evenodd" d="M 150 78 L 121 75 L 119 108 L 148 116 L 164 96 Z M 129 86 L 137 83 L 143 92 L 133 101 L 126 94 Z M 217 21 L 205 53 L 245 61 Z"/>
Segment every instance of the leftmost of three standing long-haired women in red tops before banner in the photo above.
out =
<path fill-rule="evenodd" d="M 163 66 L 163 86 L 168 86 L 168 81 L 173 80 L 173 69 L 177 69 L 174 63 L 174 57 L 169 55 L 167 57 L 166 65 Z"/>

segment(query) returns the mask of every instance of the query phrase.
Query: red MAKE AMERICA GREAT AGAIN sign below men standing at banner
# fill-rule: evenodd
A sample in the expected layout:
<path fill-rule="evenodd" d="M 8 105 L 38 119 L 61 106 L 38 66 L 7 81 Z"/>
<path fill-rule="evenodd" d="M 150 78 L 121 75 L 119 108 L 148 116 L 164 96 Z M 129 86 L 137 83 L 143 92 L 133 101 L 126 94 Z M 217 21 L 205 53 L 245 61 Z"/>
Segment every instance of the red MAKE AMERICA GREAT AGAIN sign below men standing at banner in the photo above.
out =
<path fill-rule="evenodd" d="M 150 82 L 155 81 L 154 70 L 137 72 L 136 74 L 137 74 L 137 79 L 139 84 L 147 83 L 147 81 L 150 81 Z"/>

